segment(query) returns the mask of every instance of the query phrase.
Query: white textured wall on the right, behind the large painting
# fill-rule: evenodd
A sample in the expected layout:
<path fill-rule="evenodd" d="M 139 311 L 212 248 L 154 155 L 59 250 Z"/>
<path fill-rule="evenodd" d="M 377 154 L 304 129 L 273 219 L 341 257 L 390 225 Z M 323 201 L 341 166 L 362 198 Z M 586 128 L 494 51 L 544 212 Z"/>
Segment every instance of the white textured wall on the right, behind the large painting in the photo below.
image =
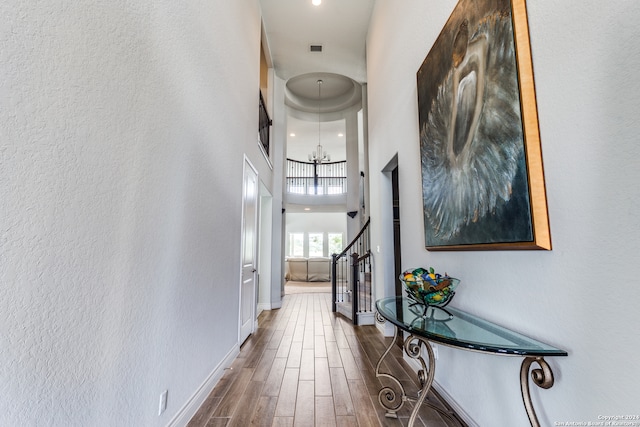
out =
<path fill-rule="evenodd" d="M 454 0 L 377 2 L 367 50 L 371 194 L 397 152 L 403 267 L 455 274 L 454 305 L 569 352 L 550 360 L 552 389 L 533 387 L 542 425 L 638 414 L 640 3 L 528 3 L 553 251 L 424 249 L 416 71 Z M 371 206 L 373 218 L 386 208 L 375 197 Z M 375 246 L 384 233 L 372 227 Z M 478 425 L 524 426 L 519 364 L 440 347 L 436 380 Z"/>

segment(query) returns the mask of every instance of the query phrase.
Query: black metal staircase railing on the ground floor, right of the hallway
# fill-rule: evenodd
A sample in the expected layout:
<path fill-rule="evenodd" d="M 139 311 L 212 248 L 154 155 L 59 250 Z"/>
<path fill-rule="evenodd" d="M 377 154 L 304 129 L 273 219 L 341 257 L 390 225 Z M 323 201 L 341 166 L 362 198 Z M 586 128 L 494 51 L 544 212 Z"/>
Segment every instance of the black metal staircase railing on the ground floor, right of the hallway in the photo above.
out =
<path fill-rule="evenodd" d="M 370 222 L 371 218 L 340 254 L 331 255 L 331 310 L 345 315 L 350 311 L 354 325 L 358 324 L 359 314 L 373 311 Z M 344 309 L 349 305 L 351 310 Z"/>

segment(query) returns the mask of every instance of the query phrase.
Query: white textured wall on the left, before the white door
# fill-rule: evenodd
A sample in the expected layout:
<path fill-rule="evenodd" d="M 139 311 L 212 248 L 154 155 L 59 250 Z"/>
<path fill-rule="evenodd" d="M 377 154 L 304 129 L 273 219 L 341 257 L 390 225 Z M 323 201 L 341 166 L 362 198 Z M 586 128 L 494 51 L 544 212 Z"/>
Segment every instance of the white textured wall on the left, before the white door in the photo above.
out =
<path fill-rule="evenodd" d="M 257 1 L 0 16 L 0 425 L 166 425 L 237 345 Z"/>

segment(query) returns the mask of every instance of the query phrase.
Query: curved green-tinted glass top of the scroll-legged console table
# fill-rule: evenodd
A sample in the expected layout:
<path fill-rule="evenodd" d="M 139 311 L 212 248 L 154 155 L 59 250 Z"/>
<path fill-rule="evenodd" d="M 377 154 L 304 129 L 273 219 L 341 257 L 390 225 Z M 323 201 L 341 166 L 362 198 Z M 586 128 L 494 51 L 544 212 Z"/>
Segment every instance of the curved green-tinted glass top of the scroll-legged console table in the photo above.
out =
<path fill-rule="evenodd" d="M 400 329 L 430 341 L 486 353 L 518 356 L 566 356 L 567 352 L 460 309 L 429 307 L 406 297 L 376 301 L 382 317 Z"/>

